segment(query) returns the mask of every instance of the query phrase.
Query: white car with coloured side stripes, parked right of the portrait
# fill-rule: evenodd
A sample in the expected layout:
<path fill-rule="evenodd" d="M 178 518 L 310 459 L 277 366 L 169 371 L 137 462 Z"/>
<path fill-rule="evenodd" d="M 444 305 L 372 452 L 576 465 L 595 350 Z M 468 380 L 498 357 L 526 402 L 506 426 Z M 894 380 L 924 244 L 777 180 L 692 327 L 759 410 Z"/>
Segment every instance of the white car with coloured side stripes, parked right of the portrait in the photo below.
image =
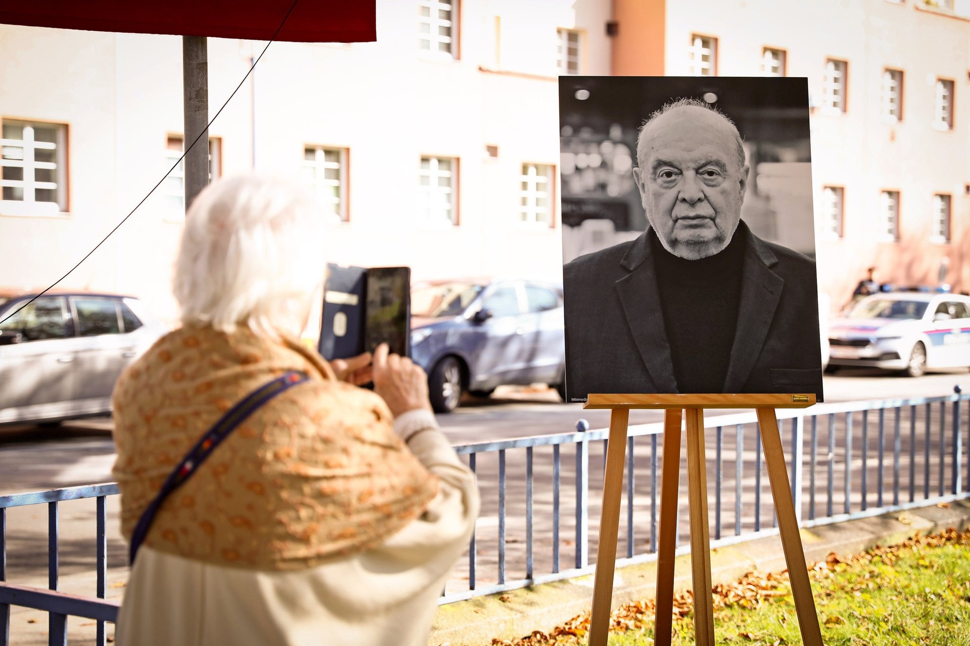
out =
<path fill-rule="evenodd" d="M 900 370 L 970 366 L 970 296 L 889 292 L 860 300 L 828 327 L 829 372 L 838 366 Z"/>

